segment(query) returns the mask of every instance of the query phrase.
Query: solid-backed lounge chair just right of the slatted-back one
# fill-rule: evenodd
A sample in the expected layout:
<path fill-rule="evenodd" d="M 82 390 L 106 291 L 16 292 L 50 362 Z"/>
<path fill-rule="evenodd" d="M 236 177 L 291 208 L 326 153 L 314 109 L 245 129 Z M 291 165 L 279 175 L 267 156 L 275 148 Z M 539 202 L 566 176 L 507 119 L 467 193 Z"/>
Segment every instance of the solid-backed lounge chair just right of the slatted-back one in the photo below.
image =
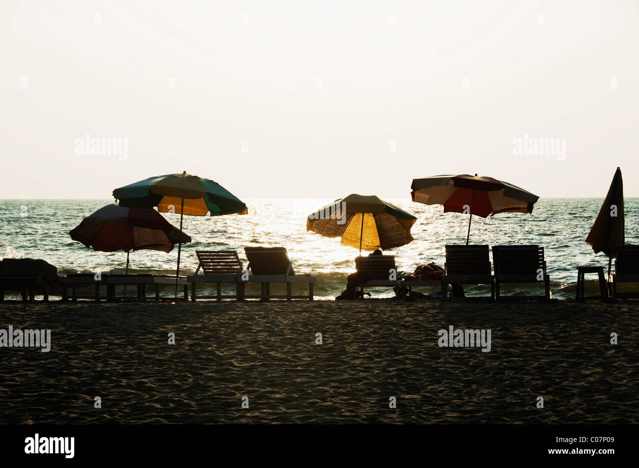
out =
<path fill-rule="evenodd" d="M 314 276 L 295 275 L 293 265 L 288 258 L 284 247 L 246 247 L 244 249 L 246 258 L 249 260 L 247 269 L 252 275 L 249 276 L 249 283 L 260 283 L 261 293 L 259 296 L 246 296 L 246 299 L 305 299 L 313 300 Z M 286 296 L 275 296 L 270 294 L 271 283 L 286 283 Z M 292 283 L 308 283 L 308 296 L 293 296 L 291 294 Z"/>

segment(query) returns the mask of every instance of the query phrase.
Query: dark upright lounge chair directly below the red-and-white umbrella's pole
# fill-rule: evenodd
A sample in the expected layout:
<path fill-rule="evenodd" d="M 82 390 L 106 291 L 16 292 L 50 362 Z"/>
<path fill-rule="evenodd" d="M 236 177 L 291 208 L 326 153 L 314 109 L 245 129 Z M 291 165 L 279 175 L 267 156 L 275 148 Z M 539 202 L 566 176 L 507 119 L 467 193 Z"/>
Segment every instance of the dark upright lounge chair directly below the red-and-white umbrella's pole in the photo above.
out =
<path fill-rule="evenodd" d="M 495 299 L 495 278 L 491 273 L 488 245 L 447 245 L 442 277 L 442 299 L 448 298 L 448 285 L 489 284 Z"/>

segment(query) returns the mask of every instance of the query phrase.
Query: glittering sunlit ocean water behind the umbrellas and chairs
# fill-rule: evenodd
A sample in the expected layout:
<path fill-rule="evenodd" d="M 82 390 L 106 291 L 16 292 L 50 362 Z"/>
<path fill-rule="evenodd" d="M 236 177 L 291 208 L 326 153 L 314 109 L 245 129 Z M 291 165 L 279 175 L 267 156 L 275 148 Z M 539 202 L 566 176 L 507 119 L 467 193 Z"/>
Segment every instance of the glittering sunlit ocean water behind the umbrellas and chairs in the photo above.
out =
<path fill-rule="evenodd" d="M 285 246 L 298 273 L 317 276 L 315 295 L 332 299 L 346 287 L 346 276 L 355 271 L 358 250 L 307 232 L 306 217 L 330 199 L 245 200 L 248 215 L 185 216 L 183 230 L 192 243 L 182 246 L 180 273 L 197 267 L 196 250 L 237 250 L 246 262 L 245 246 Z M 415 240 L 387 250 L 396 255 L 399 271 L 412 272 L 419 264 L 443 266 L 445 245 L 466 241 L 468 216 L 443 213 L 442 206 L 425 206 L 410 199 L 388 199 L 417 216 L 412 227 Z M 84 217 L 112 200 L 0 200 L 0 257 L 43 259 L 59 273 L 123 273 L 125 252 L 93 252 L 73 241 L 68 232 Z M 578 266 L 604 266 L 603 253 L 594 254 L 585 242 L 603 199 L 540 199 L 532 215 L 504 213 L 492 218 L 473 216 L 470 243 L 488 245 L 537 244 L 545 247 L 546 264 L 554 298 L 573 298 Z M 636 227 L 639 199 L 624 200 L 626 243 L 639 243 Z M 164 214 L 179 225 L 180 215 Z M 130 254 L 130 273 L 174 274 L 178 249 L 172 252 L 140 250 Z M 524 287 L 528 288 L 528 286 Z M 590 284 L 593 289 L 593 284 Z M 472 287 L 470 294 L 482 293 Z M 524 291 L 523 289 L 517 291 Z M 374 297 L 389 297 L 390 289 L 373 289 Z"/>

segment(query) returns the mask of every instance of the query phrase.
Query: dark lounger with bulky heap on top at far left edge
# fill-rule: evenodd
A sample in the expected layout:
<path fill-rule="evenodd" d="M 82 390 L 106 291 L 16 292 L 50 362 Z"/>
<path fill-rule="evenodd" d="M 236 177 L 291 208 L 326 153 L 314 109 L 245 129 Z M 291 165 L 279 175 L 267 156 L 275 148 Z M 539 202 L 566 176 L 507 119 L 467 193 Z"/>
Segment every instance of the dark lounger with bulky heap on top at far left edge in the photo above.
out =
<path fill-rule="evenodd" d="M 49 291 L 58 279 L 58 268 L 41 259 L 0 260 L 0 301 L 4 291 L 22 291 L 22 300 L 34 301 L 40 292 L 49 301 Z"/>

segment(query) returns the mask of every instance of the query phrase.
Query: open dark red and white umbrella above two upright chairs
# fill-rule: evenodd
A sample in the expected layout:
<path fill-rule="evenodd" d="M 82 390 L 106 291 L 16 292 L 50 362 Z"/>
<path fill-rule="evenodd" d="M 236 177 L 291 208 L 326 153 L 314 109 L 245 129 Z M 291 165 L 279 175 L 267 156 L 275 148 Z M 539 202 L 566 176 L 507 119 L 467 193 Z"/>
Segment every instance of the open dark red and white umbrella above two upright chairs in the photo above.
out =
<path fill-rule="evenodd" d="M 413 202 L 425 205 L 443 205 L 444 213 L 464 213 L 468 218 L 468 235 L 473 215 L 482 218 L 497 213 L 532 213 L 532 206 L 539 200 L 523 188 L 498 181 L 493 177 L 468 174 L 458 176 L 433 176 L 413 179 Z"/>

